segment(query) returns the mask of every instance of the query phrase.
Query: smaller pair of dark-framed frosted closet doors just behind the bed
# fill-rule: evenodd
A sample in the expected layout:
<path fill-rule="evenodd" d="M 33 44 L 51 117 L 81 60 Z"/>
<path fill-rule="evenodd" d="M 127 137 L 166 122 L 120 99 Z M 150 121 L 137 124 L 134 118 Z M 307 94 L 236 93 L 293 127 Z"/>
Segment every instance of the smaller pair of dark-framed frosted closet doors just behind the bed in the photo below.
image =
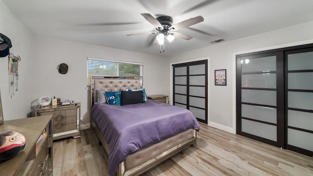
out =
<path fill-rule="evenodd" d="M 207 61 L 173 65 L 173 105 L 190 110 L 207 123 Z"/>

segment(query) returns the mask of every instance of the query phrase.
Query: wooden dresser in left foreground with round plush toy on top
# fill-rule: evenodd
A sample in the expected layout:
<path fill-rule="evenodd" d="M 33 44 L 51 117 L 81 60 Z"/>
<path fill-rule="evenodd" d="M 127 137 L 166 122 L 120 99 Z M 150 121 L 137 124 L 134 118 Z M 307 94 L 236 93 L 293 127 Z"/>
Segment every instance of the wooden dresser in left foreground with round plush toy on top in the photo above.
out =
<path fill-rule="evenodd" d="M 21 153 L 0 163 L 2 176 L 52 176 L 52 115 L 7 120 L 0 132 L 14 130 L 26 139 Z M 40 140 L 39 140 L 40 139 Z"/>

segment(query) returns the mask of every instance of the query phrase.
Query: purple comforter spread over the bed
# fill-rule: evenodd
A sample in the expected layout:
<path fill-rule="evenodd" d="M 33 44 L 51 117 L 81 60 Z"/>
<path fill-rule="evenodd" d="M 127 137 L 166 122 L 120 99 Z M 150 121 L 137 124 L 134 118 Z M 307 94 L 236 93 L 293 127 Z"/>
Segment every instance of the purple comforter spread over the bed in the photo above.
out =
<path fill-rule="evenodd" d="M 95 103 L 90 115 L 109 144 L 109 176 L 128 154 L 187 129 L 200 130 L 189 110 L 153 100 L 126 106 Z"/>

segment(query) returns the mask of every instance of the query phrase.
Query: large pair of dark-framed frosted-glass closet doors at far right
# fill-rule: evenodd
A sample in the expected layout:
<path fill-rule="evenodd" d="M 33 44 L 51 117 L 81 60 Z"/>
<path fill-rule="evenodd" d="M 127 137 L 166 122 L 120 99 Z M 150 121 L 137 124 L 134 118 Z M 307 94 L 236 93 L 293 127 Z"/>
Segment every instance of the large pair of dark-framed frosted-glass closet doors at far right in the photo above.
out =
<path fill-rule="evenodd" d="M 236 56 L 237 133 L 313 156 L 313 44 Z"/>

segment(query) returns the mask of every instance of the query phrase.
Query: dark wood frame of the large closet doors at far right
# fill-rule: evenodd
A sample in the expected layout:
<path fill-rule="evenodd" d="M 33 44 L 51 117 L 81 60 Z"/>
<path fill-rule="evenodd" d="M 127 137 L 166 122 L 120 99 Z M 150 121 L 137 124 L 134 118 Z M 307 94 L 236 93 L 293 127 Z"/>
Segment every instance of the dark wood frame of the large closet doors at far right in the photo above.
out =
<path fill-rule="evenodd" d="M 272 49 L 267 51 L 259 51 L 254 53 L 245 53 L 236 55 L 236 133 L 240 135 L 244 135 L 246 137 L 268 143 L 273 146 L 282 147 L 284 149 L 289 149 L 301 154 L 306 154 L 309 156 L 313 156 L 313 151 L 308 151 L 305 149 L 301 149 L 295 146 L 288 145 L 288 117 L 287 117 L 287 111 L 288 111 L 288 69 L 287 69 L 287 56 L 291 53 L 297 53 L 297 52 L 308 52 L 313 51 L 313 44 L 303 44 L 298 46 L 291 46 L 291 47 L 285 47 L 285 48 L 279 48 L 279 49 Z M 270 54 L 270 53 L 276 53 L 279 55 L 279 58 L 276 61 L 276 84 L 279 85 L 276 87 L 277 92 L 277 142 L 271 141 L 259 136 L 255 136 L 252 134 L 248 134 L 245 132 L 242 132 L 242 126 L 241 126 L 241 60 L 245 57 L 251 57 L 251 56 L 257 56 L 257 55 L 263 55 L 263 54 Z M 282 57 L 282 59 L 281 59 Z M 306 70 L 310 71 L 310 70 Z M 313 71 L 313 70 L 311 70 Z M 282 85 L 282 86 L 281 86 Z M 306 90 L 307 91 L 307 90 Z M 312 91 L 313 92 L 313 91 Z M 286 98 L 285 98 L 286 97 Z M 281 101 L 283 100 L 283 101 Z M 303 110 L 307 111 L 307 110 Z M 310 112 L 313 113 L 313 110 Z M 313 133 L 313 131 L 303 130 L 303 129 L 297 129 L 300 131 L 310 132 Z"/>

